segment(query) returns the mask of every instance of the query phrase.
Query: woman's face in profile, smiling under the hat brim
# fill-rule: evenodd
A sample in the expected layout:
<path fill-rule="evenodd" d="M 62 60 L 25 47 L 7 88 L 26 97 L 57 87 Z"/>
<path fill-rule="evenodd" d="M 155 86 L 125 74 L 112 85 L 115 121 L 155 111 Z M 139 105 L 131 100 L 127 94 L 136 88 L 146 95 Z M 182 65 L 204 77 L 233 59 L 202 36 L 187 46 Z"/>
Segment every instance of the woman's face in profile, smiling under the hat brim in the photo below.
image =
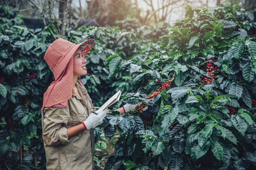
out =
<path fill-rule="evenodd" d="M 73 68 L 73 74 L 74 76 L 83 76 L 87 74 L 87 68 L 86 68 L 86 59 L 82 57 L 82 52 L 80 48 L 76 50 L 76 52 L 73 54 L 74 57 L 74 68 Z"/>

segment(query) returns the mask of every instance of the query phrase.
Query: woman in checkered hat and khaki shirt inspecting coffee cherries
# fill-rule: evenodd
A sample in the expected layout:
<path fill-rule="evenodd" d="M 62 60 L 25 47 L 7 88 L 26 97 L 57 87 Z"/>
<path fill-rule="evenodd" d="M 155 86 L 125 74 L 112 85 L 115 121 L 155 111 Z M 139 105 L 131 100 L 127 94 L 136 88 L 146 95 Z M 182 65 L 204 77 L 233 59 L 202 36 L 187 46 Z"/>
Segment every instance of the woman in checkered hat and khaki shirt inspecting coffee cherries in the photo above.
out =
<path fill-rule="evenodd" d="M 92 113 L 95 108 L 80 78 L 87 74 L 84 57 L 94 43 L 95 40 L 90 39 L 76 45 L 60 38 L 52 42 L 45 53 L 44 59 L 55 78 L 44 94 L 41 109 L 47 170 L 94 168 L 93 128 L 100 125 L 108 113 L 107 109 Z M 135 106 L 126 104 L 116 111 L 122 114 Z"/>

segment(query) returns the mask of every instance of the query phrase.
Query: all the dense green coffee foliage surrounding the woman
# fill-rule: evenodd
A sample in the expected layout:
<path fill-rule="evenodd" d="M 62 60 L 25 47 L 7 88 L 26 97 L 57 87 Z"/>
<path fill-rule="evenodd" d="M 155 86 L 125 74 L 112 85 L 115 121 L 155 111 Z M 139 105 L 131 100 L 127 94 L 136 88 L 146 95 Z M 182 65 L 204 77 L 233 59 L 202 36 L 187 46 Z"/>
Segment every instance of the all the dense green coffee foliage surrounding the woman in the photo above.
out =
<path fill-rule="evenodd" d="M 17 13 L 0 11 L 0 166 L 44 169 L 40 109 L 54 80 L 44 53 L 58 30 L 28 29 Z M 122 90 L 116 108 L 149 106 L 112 113 L 95 129 L 99 147 L 120 134 L 105 169 L 255 167 L 255 12 L 227 3 L 213 13 L 187 6 L 186 16 L 173 27 L 127 20 L 67 32 L 74 43 L 96 39 L 82 77 L 94 105 Z M 136 91 L 140 97 L 128 94 Z"/>

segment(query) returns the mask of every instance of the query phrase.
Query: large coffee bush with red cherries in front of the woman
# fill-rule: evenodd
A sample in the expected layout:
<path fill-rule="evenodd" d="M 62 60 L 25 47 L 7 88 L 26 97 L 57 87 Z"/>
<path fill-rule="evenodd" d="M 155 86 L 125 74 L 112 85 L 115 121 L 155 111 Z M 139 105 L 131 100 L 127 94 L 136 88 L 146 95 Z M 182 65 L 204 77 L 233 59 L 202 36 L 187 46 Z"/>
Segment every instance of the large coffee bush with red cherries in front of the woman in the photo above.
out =
<path fill-rule="evenodd" d="M 143 102 L 148 110 L 107 115 L 105 135 L 121 135 L 105 170 L 255 169 L 256 42 L 247 31 L 233 14 L 218 19 L 187 5 L 165 53 L 140 65 L 108 57 L 110 76 L 128 69 L 140 86 L 116 108 Z"/>

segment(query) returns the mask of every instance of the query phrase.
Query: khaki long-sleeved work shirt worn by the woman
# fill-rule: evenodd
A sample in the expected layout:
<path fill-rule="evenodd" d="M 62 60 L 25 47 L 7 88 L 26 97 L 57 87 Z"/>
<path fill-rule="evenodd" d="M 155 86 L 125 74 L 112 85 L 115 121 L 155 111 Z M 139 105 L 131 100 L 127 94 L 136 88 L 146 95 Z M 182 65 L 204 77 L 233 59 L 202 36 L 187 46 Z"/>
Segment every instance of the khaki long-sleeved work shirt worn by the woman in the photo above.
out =
<path fill-rule="evenodd" d="M 95 108 L 87 90 L 76 82 L 66 108 L 44 108 L 42 130 L 47 170 L 93 170 L 93 129 L 85 130 L 68 139 L 67 128 L 84 122 Z"/>

